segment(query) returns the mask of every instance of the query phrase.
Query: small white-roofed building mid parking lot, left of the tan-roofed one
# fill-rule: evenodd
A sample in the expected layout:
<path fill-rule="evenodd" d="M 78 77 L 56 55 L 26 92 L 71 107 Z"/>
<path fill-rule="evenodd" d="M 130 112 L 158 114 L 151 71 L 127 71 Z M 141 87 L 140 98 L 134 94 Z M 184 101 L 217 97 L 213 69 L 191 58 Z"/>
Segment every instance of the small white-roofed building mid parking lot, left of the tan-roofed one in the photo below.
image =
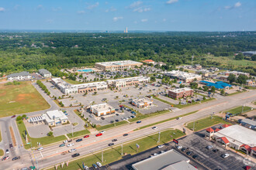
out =
<path fill-rule="evenodd" d="M 107 114 L 115 114 L 116 110 L 114 107 L 110 106 L 109 104 L 95 104 L 90 107 L 90 111 L 92 114 L 96 116 L 105 116 Z"/>

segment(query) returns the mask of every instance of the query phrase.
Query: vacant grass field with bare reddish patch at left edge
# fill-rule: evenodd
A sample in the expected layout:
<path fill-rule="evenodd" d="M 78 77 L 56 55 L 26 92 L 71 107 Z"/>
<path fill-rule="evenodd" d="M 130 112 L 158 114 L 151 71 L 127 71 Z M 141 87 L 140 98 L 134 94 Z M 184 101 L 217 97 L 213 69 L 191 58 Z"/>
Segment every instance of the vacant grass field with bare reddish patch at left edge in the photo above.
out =
<path fill-rule="evenodd" d="M 0 117 L 45 110 L 50 105 L 30 82 L 19 85 L 0 84 Z"/>

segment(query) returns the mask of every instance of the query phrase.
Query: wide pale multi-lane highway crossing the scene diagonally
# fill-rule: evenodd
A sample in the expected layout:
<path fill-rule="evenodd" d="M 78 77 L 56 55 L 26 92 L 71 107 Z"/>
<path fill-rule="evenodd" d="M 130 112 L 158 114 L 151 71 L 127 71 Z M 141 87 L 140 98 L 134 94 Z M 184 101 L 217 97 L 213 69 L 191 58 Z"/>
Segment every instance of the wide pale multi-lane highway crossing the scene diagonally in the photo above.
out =
<path fill-rule="evenodd" d="M 242 104 L 250 103 L 251 101 L 256 100 L 256 91 L 251 90 L 249 92 L 245 93 L 238 93 L 237 95 L 230 96 L 230 97 L 223 97 L 218 98 L 217 100 L 209 101 L 208 103 L 204 104 L 198 104 L 192 107 L 187 107 L 182 110 L 177 110 L 175 112 L 170 112 L 168 114 L 164 114 L 157 117 L 150 117 L 146 120 L 142 120 L 140 124 L 132 123 L 132 124 L 125 124 L 120 127 L 112 128 L 107 130 L 101 137 L 95 137 L 95 134 L 91 134 L 89 138 L 83 139 L 83 141 L 80 142 L 73 142 L 74 146 L 67 148 L 65 147 L 59 147 L 60 144 L 57 145 L 50 145 L 48 147 L 44 147 L 42 151 L 33 151 L 33 155 L 31 151 L 26 151 L 25 149 L 19 148 L 18 150 L 15 149 L 13 151 L 14 155 L 22 154 L 22 158 L 19 161 L 16 162 L 22 162 L 22 165 L 12 164 L 13 162 L 8 160 L 5 162 L 1 162 L 1 167 L 5 169 L 12 169 L 12 168 L 22 168 L 25 165 L 31 165 L 31 159 L 34 163 L 34 165 L 38 165 L 39 168 L 45 168 L 51 165 L 56 165 L 60 162 L 65 162 L 67 160 L 71 159 L 72 154 L 67 155 L 61 155 L 61 152 L 67 151 L 71 148 L 76 148 L 78 153 L 80 155 L 88 155 L 92 154 L 95 151 L 101 151 L 104 148 L 108 148 L 108 144 L 111 142 L 113 138 L 116 138 L 118 141 L 115 142 L 115 145 L 119 145 L 121 143 L 124 143 L 126 141 L 131 141 L 136 138 L 142 138 L 148 134 L 155 133 L 157 131 L 162 131 L 167 128 L 174 128 L 175 126 L 178 126 L 180 124 L 185 124 L 188 121 L 194 121 L 196 119 L 199 119 L 201 117 L 206 117 L 209 114 L 213 114 L 213 112 L 218 113 L 223 110 L 227 110 L 232 107 L 236 107 Z M 136 128 L 140 128 L 147 124 L 152 124 L 157 121 L 162 121 L 165 119 L 168 119 L 170 117 L 176 117 L 181 114 L 186 114 L 189 112 L 192 112 L 194 110 L 199 110 L 195 114 L 190 114 L 189 116 L 183 117 L 181 120 L 173 120 L 168 121 L 162 124 L 157 124 L 157 131 L 152 130 L 151 127 L 144 128 L 139 131 L 133 131 Z M 10 118 L 9 118 L 10 119 Z M 0 119 L 1 120 L 1 119 Z M 7 120 L 7 117 L 4 118 L 4 120 Z M 9 121 L 4 122 L 5 129 L 6 127 L 9 127 Z M 14 122 L 14 121 L 10 121 Z M 3 124 L 2 124 L 3 126 Z M 12 127 L 14 128 L 15 134 L 17 133 L 16 124 L 12 124 Z M 123 134 L 128 133 L 129 135 L 126 137 L 123 137 Z M 6 134 L 6 138 L 10 141 L 11 137 L 10 134 Z M 21 139 L 18 135 L 16 135 L 17 141 L 21 142 Z M 18 143 L 19 143 L 18 142 Z M 37 164 L 36 164 L 37 162 Z"/>

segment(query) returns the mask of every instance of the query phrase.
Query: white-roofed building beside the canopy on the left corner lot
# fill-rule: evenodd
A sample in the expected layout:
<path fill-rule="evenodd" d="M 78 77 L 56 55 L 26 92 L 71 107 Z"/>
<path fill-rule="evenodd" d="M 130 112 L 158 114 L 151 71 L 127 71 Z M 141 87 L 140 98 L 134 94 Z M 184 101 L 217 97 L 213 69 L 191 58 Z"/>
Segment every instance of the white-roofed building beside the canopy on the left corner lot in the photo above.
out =
<path fill-rule="evenodd" d="M 45 118 L 46 124 L 56 126 L 57 124 L 67 124 L 68 118 L 61 110 L 47 111 L 42 115 Z"/>

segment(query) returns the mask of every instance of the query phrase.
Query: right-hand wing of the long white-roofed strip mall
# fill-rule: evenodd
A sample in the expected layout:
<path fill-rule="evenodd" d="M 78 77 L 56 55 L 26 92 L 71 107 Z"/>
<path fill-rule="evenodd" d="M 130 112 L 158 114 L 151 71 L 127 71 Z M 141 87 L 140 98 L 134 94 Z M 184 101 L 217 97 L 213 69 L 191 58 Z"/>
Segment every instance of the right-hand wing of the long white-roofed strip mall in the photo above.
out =
<path fill-rule="evenodd" d="M 118 79 L 118 80 L 107 80 L 109 86 L 112 87 L 126 87 L 136 85 L 138 83 L 150 82 L 150 77 L 147 76 L 135 76 L 130 78 Z"/>

